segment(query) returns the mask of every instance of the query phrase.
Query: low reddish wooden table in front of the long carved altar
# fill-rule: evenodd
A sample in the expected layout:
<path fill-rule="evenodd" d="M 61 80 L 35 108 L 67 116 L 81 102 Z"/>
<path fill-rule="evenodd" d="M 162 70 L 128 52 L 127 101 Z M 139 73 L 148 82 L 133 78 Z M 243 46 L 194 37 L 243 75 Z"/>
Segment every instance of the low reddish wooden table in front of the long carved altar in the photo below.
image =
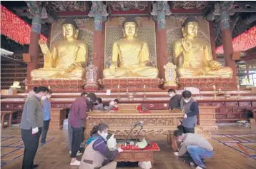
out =
<path fill-rule="evenodd" d="M 157 145 L 157 144 L 156 144 Z M 154 152 L 160 151 L 159 146 L 157 145 L 157 150 L 124 150 L 122 153 L 119 153 L 117 158 L 114 161 L 117 162 L 139 162 L 139 161 L 151 161 L 152 165 L 154 164 Z"/>

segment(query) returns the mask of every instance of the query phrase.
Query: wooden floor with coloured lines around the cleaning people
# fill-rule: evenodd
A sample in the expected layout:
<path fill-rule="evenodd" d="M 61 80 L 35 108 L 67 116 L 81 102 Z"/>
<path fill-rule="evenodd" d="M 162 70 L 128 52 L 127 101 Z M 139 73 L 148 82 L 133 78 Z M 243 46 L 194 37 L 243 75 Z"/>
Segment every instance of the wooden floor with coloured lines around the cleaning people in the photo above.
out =
<path fill-rule="evenodd" d="M 256 168 L 256 134 L 252 134 L 250 128 L 220 126 L 220 129 L 212 134 L 213 137 L 210 143 L 215 148 L 215 155 L 213 158 L 205 160 L 207 169 Z M 34 160 L 35 164 L 39 164 L 38 169 L 77 168 L 69 166 L 69 150 L 65 135 L 64 131 L 55 133 L 49 131 L 49 135 L 47 135 L 49 143 L 39 147 Z M 151 140 L 155 139 L 152 138 Z M 157 138 L 156 141 L 161 151 L 154 155 L 155 169 L 193 168 L 172 154 L 169 145 L 167 145 L 166 138 Z M 23 150 L 19 129 L 6 128 L 1 131 L 1 168 L 21 168 Z"/>

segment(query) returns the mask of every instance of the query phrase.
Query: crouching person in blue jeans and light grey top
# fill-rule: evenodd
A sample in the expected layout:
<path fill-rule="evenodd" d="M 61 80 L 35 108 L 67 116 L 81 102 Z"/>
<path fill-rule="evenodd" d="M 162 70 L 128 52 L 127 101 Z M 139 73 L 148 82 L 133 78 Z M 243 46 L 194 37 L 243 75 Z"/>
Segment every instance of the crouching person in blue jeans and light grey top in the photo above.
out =
<path fill-rule="evenodd" d="M 175 152 L 174 155 L 182 156 L 185 153 L 189 153 L 194 163 L 197 165 L 196 169 L 205 169 L 205 163 L 202 159 L 211 158 L 213 155 L 212 145 L 201 135 L 195 133 L 182 133 L 181 130 L 174 130 L 174 137 L 178 141 L 182 142 L 179 152 Z M 190 163 L 190 165 L 194 165 Z"/>

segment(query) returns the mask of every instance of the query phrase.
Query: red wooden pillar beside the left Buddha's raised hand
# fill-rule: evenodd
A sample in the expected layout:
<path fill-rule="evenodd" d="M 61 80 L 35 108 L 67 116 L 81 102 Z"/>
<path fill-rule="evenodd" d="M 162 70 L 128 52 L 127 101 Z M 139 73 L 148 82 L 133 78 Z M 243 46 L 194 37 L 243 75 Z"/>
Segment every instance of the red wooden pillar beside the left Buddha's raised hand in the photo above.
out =
<path fill-rule="evenodd" d="M 34 16 L 32 19 L 29 55 L 31 56 L 31 62 L 27 64 L 26 79 L 31 80 L 31 71 L 37 68 L 37 62 L 39 58 L 39 39 L 41 34 L 41 18 L 40 16 Z"/>

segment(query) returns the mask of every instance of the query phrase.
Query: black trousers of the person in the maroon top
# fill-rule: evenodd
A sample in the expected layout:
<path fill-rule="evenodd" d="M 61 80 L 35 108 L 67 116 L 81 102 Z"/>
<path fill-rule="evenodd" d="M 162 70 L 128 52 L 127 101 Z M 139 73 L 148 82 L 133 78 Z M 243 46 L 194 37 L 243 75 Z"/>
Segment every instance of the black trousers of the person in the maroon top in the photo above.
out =
<path fill-rule="evenodd" d="M 77 152 L 80 149 L 80 144 L 83 135 L 83 127 L 81 128 L 73 128 L 72 132 L 72 150 L 71 150 L 71 158 L 77 157 Z"/>

